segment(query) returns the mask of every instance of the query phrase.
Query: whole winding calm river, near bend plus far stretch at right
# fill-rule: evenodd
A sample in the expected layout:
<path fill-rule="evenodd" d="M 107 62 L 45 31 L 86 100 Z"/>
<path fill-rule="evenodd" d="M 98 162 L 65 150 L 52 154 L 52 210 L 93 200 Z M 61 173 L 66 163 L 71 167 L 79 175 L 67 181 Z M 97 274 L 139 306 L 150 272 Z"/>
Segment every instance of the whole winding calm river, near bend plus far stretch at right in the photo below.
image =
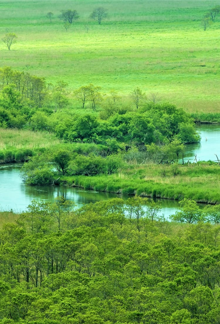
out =
<path fill-rule="evenodd" d="M 220 125 L 197 126 L 201 133 L 201 143 L 187 145 L 184 160 L 193 162 L 194 154 L 199 160 L 216 160 L 215 154 L 220 158 Z M 0 165 L 0 210 L 13 210 L 21 212 L 26 209 L 33 199 L 37 201 L 53 202 L 57 196 L 65 196 L 75 202 L 77 207 L 83 204 L 107 200 L 112 197 L 127 199 L 128 196 L 107 192 L 88 191 L 80 188 L 65 186 L 28 186 L 20 177 L 21 164 Z M 166 218 L 178 210 L 178 202 L 162 199 L 162 211 Z"/>

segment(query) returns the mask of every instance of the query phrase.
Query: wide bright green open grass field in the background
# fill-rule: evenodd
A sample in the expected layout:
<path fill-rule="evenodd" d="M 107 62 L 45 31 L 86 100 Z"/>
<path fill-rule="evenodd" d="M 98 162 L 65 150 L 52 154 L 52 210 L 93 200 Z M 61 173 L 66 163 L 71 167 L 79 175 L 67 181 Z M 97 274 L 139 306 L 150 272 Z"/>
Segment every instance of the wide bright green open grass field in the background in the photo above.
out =
<path fill-rule="evenodd" d="M 0 43 L 1 66 L 48 82 L 65 80 L 70 93 L 93 83 L 103 94 L 125 100 L 140 87 L 189 112 L 220 112 L 220 15 L 203 30 L 201 19 L 213 1 L 0 1 L 0 38 L 15 32 L 8 51 Z M 108 9 L 101 25 L 93 8 Z M 58 15 L 75 9 L 79 19 L 67 30 Z M 45 17 L 53 12 L 52 23 Z"/>

